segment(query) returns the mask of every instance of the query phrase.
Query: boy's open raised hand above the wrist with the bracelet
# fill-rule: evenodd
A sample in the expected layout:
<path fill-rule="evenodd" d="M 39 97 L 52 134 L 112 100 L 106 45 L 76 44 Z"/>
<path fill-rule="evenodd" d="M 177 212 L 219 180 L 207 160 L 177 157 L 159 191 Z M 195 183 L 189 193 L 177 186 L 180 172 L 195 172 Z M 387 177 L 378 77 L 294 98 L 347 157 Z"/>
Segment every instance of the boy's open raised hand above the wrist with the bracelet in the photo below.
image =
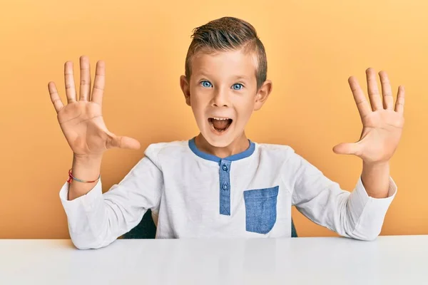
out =
<path fill-rule="evenodd" d="M 86 56 L 80 58 L 80 92 L 79 100 L 74 86 L 73 63 L 66 62 L 64 77 L 66 83 L 67 105 L 63 105 L 59 98 L 54 82 L 48 85 L 49 94 L 63 134 L 68 145 L 76 157 L 90 158 L 101 157 L 103 152 L 112 147 L 137 150 L 140 148 L 138 140 L 128 137 L 120 137 L 109 132 L 103 120 L 101 105 L 105 85 L 105 64 L 98 61 L 96 64 L 96 76 L 93 83 L 91 96 L 91 70 L 89 59 Z"/>

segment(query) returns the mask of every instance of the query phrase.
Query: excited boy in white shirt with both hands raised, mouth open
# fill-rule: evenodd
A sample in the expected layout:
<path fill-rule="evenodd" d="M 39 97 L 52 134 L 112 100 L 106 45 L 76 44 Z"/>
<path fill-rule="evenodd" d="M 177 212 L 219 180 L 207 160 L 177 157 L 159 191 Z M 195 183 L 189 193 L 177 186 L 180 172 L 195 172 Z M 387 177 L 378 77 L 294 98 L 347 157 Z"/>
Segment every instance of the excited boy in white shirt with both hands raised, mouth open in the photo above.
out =
<path fill-rule="evenodd" d="M 49 93 L 58 121 L 73 150 L 69 179 L 60 191 L 73 244 L 105 247 L 153 212 L 157 238 L 290 237 L 294 204 L 313 222 L 344 237 L 372 240 L 397 187 L 389 159 L 404 124 L 404 88 L 395 110 L 387 74 L 367 70 L 370 103 L 355 78 L 349 83 L 362 118 L 359 142 L 334 147 L 362 158 L 353 192 L 285 145 L 257 144 L 245 136 L 253 110 L 267 100 L 263 43 L 253 26 L 225 17 L 195 28 L 180 86 L 200 134 L 188 141 L 149 145 L 145 156 L 118 185 L 102 194 L 100 166 L 111 147 L 138 149 L 137 140 L 118 137 L 103 123 L 104 63 L 98 61 L 92 95 L 88 58 L 81 58 L 80 98 L 72 63 L 65 64 L 68 105 L 54 83 Z"/>

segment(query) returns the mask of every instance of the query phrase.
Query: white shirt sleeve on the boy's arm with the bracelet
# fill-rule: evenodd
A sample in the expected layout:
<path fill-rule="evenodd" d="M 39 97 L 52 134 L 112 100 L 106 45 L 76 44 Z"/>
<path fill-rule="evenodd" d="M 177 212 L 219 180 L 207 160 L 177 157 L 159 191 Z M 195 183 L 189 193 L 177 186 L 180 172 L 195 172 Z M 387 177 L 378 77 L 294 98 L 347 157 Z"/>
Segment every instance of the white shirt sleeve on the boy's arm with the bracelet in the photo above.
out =
<path fill-rule="evenodd" d="M 68 201 L 68 183 L 59 196 L 68 219 L 71 240 L 78 249 L 106 247 L 135 227 L 147 209 L 161 200 L 163 175 L 150 146 L 118 185 L 102 193 L 101 180 L 86 195 Z"/>

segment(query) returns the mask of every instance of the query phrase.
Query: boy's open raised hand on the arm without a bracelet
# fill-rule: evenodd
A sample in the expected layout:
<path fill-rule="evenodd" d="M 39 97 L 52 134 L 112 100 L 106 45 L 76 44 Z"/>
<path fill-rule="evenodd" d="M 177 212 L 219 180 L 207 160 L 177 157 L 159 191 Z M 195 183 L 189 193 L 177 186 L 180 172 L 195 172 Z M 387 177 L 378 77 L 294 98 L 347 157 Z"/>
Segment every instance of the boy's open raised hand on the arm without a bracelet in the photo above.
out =
<path fill-rule="evenodd" d="M 333 151 L 342 155 L 357 155 L 368 164 L 388 162 L 397 149 L 402 135 L 404 87 L 399 86 L 394 107 L 394 97 L 387 73 L 379 72 L 383 100 L 380 99 L 375 71 L 368 68 L 366 75 L 370 104 L 367 102 L 357 79 L 351 76 L 348 80 L 362 121 L 360 140 L 352 143 L 340 143 L 333 147 Z"/>

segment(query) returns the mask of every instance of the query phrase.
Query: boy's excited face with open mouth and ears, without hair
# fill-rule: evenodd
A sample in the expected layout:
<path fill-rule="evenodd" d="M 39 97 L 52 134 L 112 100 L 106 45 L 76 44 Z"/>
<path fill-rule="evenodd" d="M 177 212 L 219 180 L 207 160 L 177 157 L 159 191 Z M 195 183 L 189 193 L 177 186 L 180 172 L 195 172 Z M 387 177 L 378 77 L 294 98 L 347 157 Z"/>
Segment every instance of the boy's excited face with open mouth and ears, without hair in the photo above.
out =
<path fill-rule="evenodd" d="M 240 138 L 253 111 L 267 99 L 272 83 L 257 88 L 257 66 L 251 52 L 199 52 L 193 57 L 190 82 L 180 78 L 186 103 L 210 145 L 227 147 Z"/>

